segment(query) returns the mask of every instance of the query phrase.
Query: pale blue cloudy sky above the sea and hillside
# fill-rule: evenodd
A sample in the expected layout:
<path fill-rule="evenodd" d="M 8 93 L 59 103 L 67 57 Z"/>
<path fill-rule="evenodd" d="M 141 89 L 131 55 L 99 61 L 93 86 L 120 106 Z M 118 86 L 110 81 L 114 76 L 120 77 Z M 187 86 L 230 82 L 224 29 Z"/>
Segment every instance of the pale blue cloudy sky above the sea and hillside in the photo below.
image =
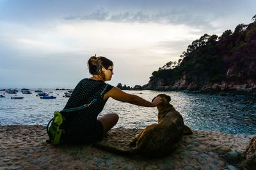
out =
<path fill-rule="evenodd" d="M 0 0 L 0 88 L 74 89 L 92 55 L 114 63 L 107 83 L 145 85 L 200 36 L 234 31 L 255 0 Z"/>

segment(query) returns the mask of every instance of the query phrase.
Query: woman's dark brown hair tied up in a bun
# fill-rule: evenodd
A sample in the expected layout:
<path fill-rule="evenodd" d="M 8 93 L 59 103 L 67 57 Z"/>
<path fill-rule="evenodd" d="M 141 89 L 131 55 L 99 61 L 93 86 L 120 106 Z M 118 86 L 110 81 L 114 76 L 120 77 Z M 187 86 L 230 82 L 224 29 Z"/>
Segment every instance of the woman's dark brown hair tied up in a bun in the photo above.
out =
<path fill-rule="evenodd" d="M 102 76 L 104 78 L 104 74 L 102 74 L 101 69 L 104 67 L 105 69 L 108 69 L 109 66 L 113 66 L 113 62 L 106 57 L 96 57 L 92 56 L 88 60 L 88 69 L 91 74 L 97 74 Z"/>

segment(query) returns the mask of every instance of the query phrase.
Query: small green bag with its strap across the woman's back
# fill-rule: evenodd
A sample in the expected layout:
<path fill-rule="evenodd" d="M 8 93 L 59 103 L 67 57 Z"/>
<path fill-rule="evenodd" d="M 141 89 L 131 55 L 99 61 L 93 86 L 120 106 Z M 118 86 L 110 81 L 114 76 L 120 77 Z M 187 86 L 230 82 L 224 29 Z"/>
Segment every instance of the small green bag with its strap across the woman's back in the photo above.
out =
<path fill-rule="evenodd" d="M 59 145 L 60 143 L 63 143 L 64 141 L 63 141 L 63 139 L 61 139 L 61 134 L 62 134 L 63 130 L 65 129 L 65 117 L 63 115 L 61 115 L 61 113 L 77 111 L 77 110 L 82 110 L 84 108 L 87 108 L 88 106 L 95 103 L 95 101 L 97 101 L 97 99 L 103 95 L 103 93 L 107 89 L 107 87 L 108 87 L 108 84 L 106 84 L 104 90 L 102 90 L 102 92 L 99 94 L 99 96 L 97 96 L 95 99 L 93 99 L 91 101 L 91 103 L 89 103 L 89 104 L 84 104 L 83 106 L 79 106 L 76 108 L 69 108 L 66 110 L 61 110 L 60 112 L 55 111 L 53 114 L 53 118 L 51 118 L 51 120 L 49 121 L 49 123 L 47 124 L 47 127 L 46 127 L 46 131 L 49 136 L 49 140 L 47 140 L 46 142 L 52 143 L 53 145 Z M 90 92 L 90 94 L 88 96 L 93 94 L 93 92 L 95 92 L 95 90 L 92 90 L 92 92 Z M 50 125 L 50 127 L 49 127 L 49 125 Z"/>

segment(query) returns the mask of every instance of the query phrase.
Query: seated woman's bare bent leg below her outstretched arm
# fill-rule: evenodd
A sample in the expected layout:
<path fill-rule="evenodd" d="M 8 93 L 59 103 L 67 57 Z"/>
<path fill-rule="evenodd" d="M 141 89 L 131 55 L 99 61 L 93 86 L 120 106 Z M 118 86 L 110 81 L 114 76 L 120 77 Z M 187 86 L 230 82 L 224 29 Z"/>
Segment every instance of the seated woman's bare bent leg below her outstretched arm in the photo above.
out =
<path fill-rule="evenodd" d="M 117 122 L 118 115 L 116 113 L 108 113 L 102 117 L 97 118 L 103 124 L 104 134 L 106 134 Z"/>

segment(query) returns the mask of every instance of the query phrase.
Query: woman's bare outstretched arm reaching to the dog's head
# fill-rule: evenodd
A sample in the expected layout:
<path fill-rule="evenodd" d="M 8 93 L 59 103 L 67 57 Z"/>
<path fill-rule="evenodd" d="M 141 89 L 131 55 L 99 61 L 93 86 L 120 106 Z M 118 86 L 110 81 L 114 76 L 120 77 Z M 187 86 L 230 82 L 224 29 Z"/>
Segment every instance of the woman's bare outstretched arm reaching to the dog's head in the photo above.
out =
<path fill-rule="evenodd" d="M 156 97 L 156 99 L 154 99 L 154 101 L 151 103 L 139 96 L 136 96 L 133 94 L 127 94 L 122 90 L 118 89 L 117 87 L 113 87 L 111 90 L 109 90 L 109 92 L 107 92 L 104 95 L 104 100 L 108 99 L 108 97 L 112 97 L 117 101 L 122 101 L 122 102 L 136 104 L 138 106 L 145 106 L 145 107 L 155 107 L 157 106 L 157 104 L 161 103 L 161 97 Z"/>

